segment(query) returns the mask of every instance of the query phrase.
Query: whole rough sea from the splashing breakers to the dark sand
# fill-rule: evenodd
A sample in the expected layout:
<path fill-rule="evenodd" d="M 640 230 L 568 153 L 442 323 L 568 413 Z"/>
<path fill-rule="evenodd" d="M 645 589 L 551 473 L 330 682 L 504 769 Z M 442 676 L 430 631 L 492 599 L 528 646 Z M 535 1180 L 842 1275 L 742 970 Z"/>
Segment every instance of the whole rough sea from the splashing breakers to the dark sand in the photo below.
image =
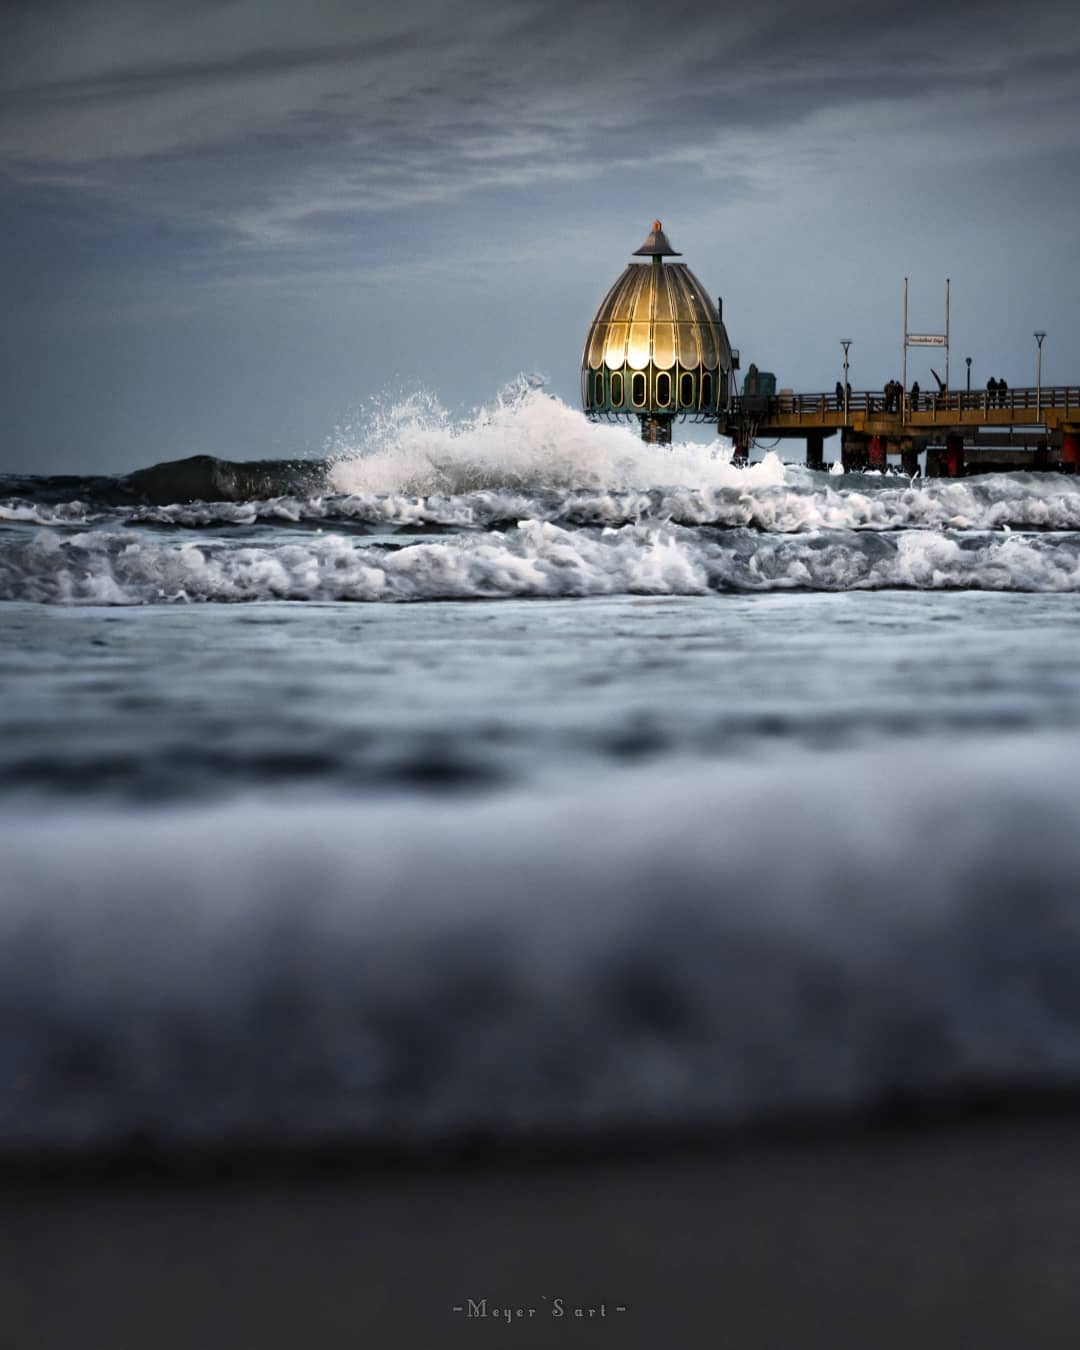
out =
<path fill-rule="evenodd" d="M 1075 478 L 417 396 L 0 478 L 0 683 L 8 1156 L 1080 1085 Z"/>

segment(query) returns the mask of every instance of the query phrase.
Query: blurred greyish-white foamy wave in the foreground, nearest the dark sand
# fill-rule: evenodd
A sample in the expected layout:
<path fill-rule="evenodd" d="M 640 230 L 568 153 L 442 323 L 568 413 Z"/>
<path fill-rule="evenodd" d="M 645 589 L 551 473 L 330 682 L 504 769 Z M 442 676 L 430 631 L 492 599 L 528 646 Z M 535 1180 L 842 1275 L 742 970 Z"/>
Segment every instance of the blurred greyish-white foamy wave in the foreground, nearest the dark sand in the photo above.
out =
<path fill-rule="evenodd" d="M 1080 1081 L 1072 737 L 0 824 L 0 1146 Z"/>

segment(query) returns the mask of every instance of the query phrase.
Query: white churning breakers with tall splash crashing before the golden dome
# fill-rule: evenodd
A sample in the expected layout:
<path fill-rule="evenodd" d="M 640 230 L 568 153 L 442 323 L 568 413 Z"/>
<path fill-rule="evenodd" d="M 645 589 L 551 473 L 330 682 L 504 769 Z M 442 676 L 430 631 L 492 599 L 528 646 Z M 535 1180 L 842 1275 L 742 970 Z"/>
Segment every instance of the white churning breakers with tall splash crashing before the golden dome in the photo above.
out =
<path fill-rule="evenodd" d="M 0 482 L 0 599 L 1072 591 L 1073 483 L 737 468 L 721 441 L 643 446 L 522 379 L 459 421 L 421 396 L 377 408 L 317 462 Z"/>

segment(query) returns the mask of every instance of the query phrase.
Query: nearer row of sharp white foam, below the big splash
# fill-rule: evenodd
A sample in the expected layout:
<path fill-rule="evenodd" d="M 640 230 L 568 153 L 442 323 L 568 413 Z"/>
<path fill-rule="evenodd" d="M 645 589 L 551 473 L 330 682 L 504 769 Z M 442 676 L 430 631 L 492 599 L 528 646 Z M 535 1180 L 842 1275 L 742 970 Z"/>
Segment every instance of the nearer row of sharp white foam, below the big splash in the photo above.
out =
<path fill-rule="evenodd" d="M 282 543 L 39 531 L 0 547 L 0 598 L 46 603 L 498 599 L 710 590 L 1080 590 L 1075 535 L 763 535 L 521 521 L 408 547 L 323 533 Z"/>

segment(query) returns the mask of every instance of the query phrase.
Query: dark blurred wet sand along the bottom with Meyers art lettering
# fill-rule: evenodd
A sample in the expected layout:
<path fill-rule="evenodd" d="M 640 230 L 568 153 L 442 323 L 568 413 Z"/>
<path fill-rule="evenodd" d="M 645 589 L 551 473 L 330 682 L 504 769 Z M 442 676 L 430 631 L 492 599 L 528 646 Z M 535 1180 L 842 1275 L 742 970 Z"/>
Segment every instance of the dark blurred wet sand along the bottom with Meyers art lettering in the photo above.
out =
<path fill-rule="evenodd" d="M 3 1189 L 0 1343 L 18 1350 L 1080 1335 L 1080 1116 L 590 1162 L 8 1173 Z"/>

